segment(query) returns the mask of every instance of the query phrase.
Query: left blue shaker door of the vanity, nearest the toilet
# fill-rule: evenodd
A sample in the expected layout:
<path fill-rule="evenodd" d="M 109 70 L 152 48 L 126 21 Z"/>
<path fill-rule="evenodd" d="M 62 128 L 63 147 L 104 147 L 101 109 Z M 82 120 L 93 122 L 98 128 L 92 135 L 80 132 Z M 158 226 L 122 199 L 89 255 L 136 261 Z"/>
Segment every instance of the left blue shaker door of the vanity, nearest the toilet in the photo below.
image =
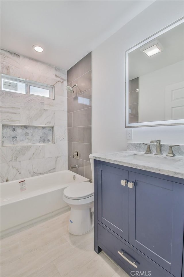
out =
<path fill-rule="evenodd" d="M 98 220 L 120 237 L 129 239 L 129 188 L 121 180 L 128 180 L 129 172 L 98 164 Z"/>

